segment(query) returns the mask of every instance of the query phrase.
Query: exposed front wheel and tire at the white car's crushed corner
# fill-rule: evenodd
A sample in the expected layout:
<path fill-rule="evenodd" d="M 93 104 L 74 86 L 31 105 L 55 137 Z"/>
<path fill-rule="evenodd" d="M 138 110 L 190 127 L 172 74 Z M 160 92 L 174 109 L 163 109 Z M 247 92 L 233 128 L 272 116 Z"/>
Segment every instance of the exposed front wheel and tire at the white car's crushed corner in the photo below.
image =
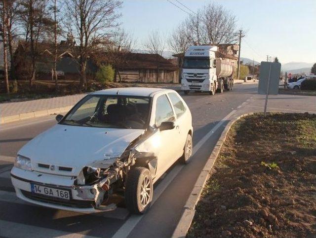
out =
<path fill-rule="evenodd" d="M 125 204 L 131 213 L 144 214 L 153 200 L 153 192 L 153 179 L 148 169 L 136 167 L 129 170 L 126 178 Z"/>

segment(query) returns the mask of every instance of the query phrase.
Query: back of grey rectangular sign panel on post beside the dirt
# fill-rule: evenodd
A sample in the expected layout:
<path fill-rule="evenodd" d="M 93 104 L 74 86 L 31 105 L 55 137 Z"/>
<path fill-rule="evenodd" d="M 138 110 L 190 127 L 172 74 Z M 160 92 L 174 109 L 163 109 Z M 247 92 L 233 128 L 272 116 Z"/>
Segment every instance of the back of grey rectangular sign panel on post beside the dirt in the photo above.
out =
<path fill-rule="evenodd" d="M 260 79 L 259 79 L 259 86 L 258 86 L 259 94 L 267 94 L 267 93 L 269 93 L 269 95 L 278 94 L 280 71 L 281 71 L 280 63 L 272 63 L 272 62 L 264 62 L 264 61 L 261 62 Z M 270 74 L 270 80 L 269 80 L 269 74 Z M 268 88 L 268 84 L 269 84 L 269 88 Z"/>

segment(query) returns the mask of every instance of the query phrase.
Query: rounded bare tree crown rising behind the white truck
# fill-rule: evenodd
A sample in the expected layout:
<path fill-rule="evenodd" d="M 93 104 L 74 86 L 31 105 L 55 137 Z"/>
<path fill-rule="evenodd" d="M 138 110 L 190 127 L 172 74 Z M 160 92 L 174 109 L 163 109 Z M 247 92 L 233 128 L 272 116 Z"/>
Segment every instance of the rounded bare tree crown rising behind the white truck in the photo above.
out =
<path fill-rule="evenodd" d="M 175 53 L 188 45 L 237 43 L 236 17 L 223 6 L 209 3 L 188 16 L 170 35 L 169 45 Z"/>

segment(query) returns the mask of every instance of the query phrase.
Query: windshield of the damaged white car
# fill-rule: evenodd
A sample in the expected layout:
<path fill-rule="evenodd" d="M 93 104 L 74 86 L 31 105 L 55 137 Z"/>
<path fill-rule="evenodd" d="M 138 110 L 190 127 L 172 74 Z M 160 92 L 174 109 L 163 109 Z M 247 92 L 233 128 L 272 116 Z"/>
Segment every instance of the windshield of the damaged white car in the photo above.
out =
<path fill-rule="evenodd" d="M 149 97 L 88 95 L 59 124 L 145 129 L 149 102 Z"/>

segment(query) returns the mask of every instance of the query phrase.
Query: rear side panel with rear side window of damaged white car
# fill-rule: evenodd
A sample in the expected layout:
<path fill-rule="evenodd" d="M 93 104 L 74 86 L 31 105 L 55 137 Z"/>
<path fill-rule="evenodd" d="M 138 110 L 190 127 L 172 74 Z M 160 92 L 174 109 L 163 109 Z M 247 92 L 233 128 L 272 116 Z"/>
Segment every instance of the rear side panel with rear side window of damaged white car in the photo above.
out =
<path fill-rule="evenodd" d="M 189 132 L 189 119 L 186 115 L 186 106 L 176 93 L 168 93 L 170 102 L 176 114 L 175 126 L 178 132 L 177 141 L 175 141 L 175 148 L 177 148 L 176 159 L 180 158 L 183 154 L 183 148 Z"/>

